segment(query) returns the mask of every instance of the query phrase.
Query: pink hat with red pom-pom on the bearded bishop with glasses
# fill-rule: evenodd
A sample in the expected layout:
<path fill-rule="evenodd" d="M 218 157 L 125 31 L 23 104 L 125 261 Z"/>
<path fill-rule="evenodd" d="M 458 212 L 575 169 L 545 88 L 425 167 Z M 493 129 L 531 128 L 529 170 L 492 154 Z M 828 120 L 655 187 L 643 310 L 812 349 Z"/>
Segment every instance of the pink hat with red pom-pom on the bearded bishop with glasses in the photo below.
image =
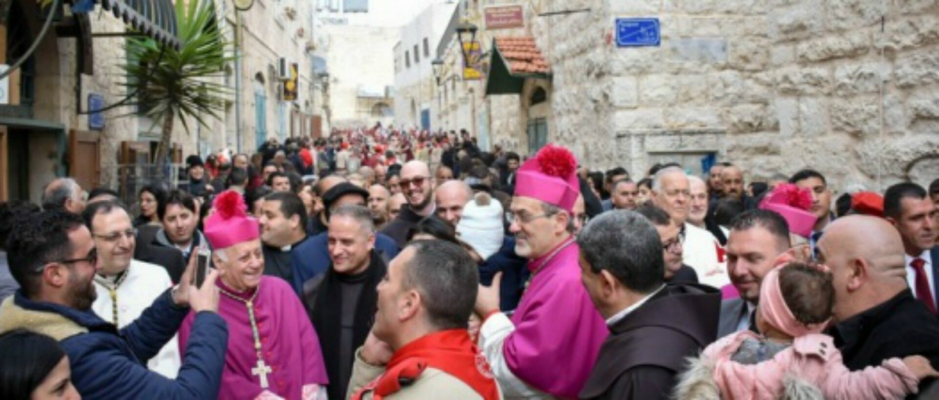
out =
<path fill-rule="evenodd" d="M 580 195 L 577 157 L 548 143 L 516 172 L 516 196 L 545 201 L 573 213 Z"/>

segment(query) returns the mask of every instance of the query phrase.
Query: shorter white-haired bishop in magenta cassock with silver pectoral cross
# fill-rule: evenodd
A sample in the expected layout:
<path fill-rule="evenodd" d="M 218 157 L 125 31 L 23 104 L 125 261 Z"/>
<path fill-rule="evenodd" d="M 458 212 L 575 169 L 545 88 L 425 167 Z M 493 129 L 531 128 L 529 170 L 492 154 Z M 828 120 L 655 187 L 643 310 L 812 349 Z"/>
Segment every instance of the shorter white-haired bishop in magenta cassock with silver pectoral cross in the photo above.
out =
<path fill-rule="evenodd" d="M 325 400 L 328 383 L 316 331 L 284 280 L 263 275 L 257 220 L 241 196 L 226 191 L 213 204 L 205 235 L 222 272 L 219 315 L 228 322 L 220 399 Z M 192 314 L 179 329 L 185 351 Z"/>

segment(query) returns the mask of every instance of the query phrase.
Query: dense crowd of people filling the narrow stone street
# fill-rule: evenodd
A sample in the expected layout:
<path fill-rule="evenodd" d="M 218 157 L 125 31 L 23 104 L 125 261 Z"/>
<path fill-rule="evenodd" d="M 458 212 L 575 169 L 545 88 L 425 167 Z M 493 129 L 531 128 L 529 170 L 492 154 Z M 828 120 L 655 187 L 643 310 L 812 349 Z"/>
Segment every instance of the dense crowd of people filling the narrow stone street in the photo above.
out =
<path fill-rule="evenodd" d="M 0 204 L 0 398 L 939 398 L 939 179 L 589 167 L 376 126 L 55 179 Z"/>

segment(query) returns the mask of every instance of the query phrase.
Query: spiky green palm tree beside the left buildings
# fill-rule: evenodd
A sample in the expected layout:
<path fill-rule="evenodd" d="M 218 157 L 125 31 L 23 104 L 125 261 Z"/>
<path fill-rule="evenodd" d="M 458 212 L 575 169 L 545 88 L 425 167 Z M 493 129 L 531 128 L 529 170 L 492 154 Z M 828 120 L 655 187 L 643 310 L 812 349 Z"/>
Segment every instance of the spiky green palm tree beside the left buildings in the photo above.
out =
<path fill-rule="evenodd" d="M 204 115 L 221 119 L 225 97 L 229 94 L 216 79 L 224 66 L 234 60 L 225 54 L 227 45 L 215 21 L 211 0 L 177 1 L 176 14 L 180 47 L 162 45 L 149 37 L 128 39 L 128 63 L 121 65 L 129 93 L 129 104 L 153 121 L 152 129 L 161 126 L 160 144 L 153 162 L 165 165 L 178 118 L 189 133 L 187 120 L 207 126 Z"/>

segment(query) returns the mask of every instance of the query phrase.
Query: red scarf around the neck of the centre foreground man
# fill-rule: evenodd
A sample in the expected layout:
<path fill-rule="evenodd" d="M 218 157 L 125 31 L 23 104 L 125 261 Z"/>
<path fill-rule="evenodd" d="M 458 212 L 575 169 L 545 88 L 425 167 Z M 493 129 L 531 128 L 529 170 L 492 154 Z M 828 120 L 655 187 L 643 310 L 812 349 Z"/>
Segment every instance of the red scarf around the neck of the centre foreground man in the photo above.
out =
<path fill-rule="evenodd" d="M 362 400 L 362 394 L 372 392 L 372 398 L 380 400 L 400 391 L 428 367 L 460 379 L 485 400 L 499 399 L 499 387 L 489 364 L 469 340 L 465 329 L 431 333 L 399 348 L 385 367 L 385 373 L 353 394 L 352 399 Z"/>

